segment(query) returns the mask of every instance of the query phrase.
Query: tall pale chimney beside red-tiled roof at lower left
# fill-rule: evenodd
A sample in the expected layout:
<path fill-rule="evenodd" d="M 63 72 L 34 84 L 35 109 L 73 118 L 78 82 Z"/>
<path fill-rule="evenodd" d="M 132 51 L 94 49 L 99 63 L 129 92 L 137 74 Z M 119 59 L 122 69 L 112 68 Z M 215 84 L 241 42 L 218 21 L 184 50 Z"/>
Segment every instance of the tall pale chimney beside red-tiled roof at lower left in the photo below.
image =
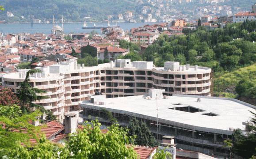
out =
<path fill-rule="evenodd" d="M 76 114 L 65 115 L 65 134 L 75 133 L 77 128 Z"/>

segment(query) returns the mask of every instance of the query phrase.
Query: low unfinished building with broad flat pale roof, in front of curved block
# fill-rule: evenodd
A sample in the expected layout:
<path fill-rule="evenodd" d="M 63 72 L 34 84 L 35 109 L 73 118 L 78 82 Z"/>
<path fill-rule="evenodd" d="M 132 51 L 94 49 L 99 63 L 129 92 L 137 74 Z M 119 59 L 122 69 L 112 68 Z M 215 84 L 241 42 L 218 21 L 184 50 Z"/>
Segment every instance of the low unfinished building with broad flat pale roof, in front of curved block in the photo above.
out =
<path fill-rule="evenodd" d="M 79 115 L 84 120 L 97 118 L 107 125 L 109 121 L 103 112 L 107 110 L 122 126 L 129 125 L 131 117 L 137 117 L 156 135 L 158 121 L 159 137 L 175 136 L 177 149 L 203 152 L 223 159 L 229 155 L 224 140 L 231 138 L 234 129 L 245 130 L 253 116 L 248 110 L 256 109 L 256 106 L 233 98 L 164 96 L 164 92 L 164 89 L 152 89 L 144 95 L 120 98 L 95 95 L 90 101 L 80 103 L 83 112 Z"/>

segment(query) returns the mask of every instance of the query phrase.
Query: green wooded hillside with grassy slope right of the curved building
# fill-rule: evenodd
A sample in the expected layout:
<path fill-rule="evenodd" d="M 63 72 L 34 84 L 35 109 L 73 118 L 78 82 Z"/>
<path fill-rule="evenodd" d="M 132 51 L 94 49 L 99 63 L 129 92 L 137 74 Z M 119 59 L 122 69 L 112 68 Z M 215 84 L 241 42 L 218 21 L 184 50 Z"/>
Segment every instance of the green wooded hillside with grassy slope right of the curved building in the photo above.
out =
<path fill-rule="evenodd" d="M 238 93 L 239 97 L 256 98 L 254 91 L 256 85 L 253 77 L 256 76 L 255 30 L 256 22 L 232 23 L 223 29 L 215 30 L 206 30 L 204 27 L 199 27 L 195 31 L 183 30 L 186 35 L 160 36 L 142 54 L 132 52 L 119 58 L 129 58 L 132 61 L 141 59 L 154 61 L 154 64 L 160 67 L 164 66 L 165 61 L 180 61 L 180 64 L 190 63 L 210 67 L 213 69 L 214 77 L 217 78 L 214 82 L 216 95 L 229 92 L 233 94 L 232 97 L 237 97 Z M 120 42 L 120 47 L 134 49 L 133 45 L 124 41 Z M 237 70 L 252 64 L 254 65 L 251 67 Z M 232 73 L 229 74 L 229 72 Z M 227 74 L 222 76 L 225 73 Z M 222 78 L 218 79 L 221 76 Z M 247 79 L 247 81 L 241 81 L 242 79 Z M 245 86 L 243 92 L 237 92 L 235 89 L 240 87 L 237 86 L 239 83 Z"/>

